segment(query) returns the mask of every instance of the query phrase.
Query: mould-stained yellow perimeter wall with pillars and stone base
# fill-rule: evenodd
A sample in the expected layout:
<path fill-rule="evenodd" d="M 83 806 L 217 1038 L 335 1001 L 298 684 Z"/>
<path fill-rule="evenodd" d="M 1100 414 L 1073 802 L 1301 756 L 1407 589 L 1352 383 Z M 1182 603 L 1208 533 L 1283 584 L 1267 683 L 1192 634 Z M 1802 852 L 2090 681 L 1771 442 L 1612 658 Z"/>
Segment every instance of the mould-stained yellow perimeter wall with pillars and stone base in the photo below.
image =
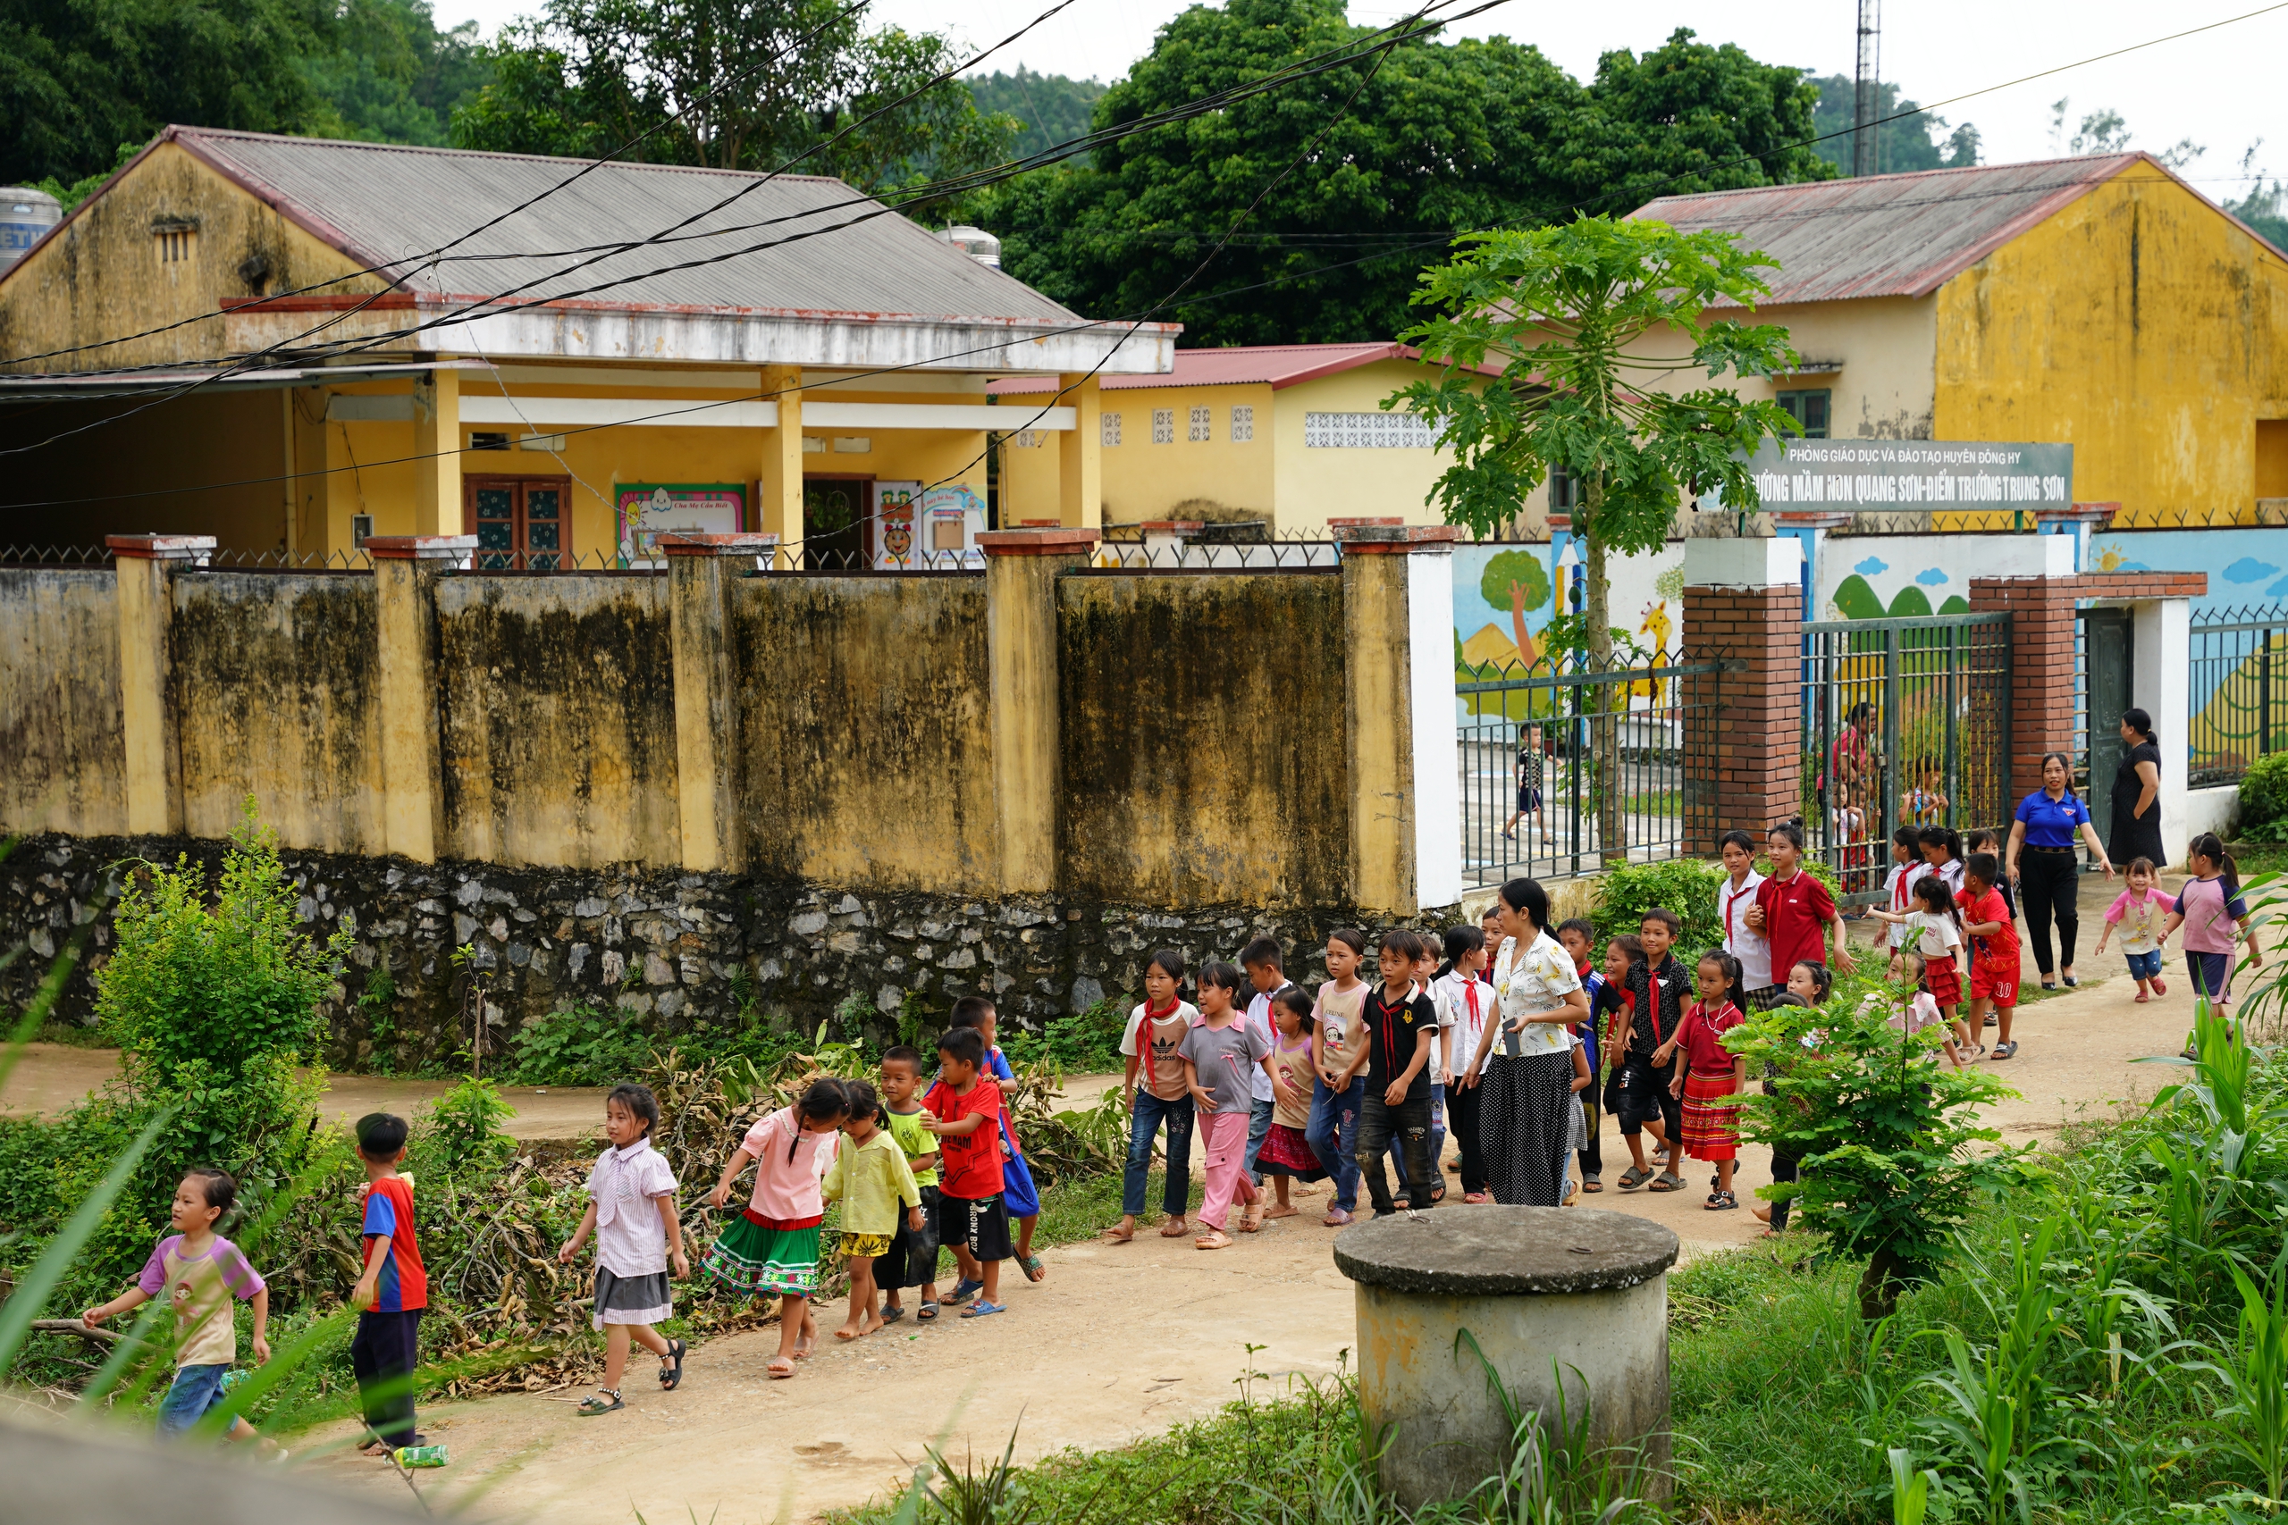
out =
<path fill-rule="evenodd" d="M 208 572 L 167 537 L 0 569 L 0 832 L 27 837 L 0 947 L 59 947 L 121 857 L 215 862 L 247 796 L 302 919 L 352 928 L 341 1056 L 382 967 L 442 1043 L 462 944 L 508 1022 L 734 990 L 1039 1022 L 1176 933 L 1409 921 L 1460 894 L 1423 848 L 1457 837 L 1428 821 L 1453 720 L 1414 672 L 1423 629 L 1451 668 L 1451 610 L 1416 608 L 1444 567 L 1414 572 L 1446 542 L 1375 535 L 1277 574 L 1091 572 L 1078 530 L 991 537 L 986 576 L 755 574 L 750 537 L 670 544 L 664 576 L 469 576 L 444 537 L 373 542 L 371 574 Z"/>

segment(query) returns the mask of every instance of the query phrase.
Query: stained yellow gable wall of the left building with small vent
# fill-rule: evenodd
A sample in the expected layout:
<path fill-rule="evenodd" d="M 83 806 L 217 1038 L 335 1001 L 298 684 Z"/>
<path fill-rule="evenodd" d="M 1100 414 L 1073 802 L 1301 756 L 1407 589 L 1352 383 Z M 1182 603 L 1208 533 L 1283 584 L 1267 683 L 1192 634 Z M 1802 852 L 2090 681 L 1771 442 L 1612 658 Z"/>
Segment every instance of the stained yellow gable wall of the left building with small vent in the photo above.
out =
<path fill-rule="evenodd" d="M 162 261 L 153 222 L 194 222 L 190 258 Z M 0 366 L 103 370 L 224 352 L 224 297 L 259 297 L 348 277 L 357 265 L 176 144 L 137 160 L 57 235 L 0 277 Z M 334 290 L 382 290 L 375 277 Z M 48 354 L 197 318 L 165 334 Z M 277 400 L 272 400 L 277 409 Z"/>

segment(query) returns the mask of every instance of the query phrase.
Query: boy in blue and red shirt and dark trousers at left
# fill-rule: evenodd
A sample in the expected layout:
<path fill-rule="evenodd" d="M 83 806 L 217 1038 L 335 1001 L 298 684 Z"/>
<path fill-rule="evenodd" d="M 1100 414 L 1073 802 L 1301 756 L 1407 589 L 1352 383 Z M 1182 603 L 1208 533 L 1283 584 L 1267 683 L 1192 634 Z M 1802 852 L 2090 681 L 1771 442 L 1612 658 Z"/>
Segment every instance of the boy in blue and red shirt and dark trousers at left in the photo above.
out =
<path fill-rule="evenodd" d="M 414 1434 L 414 1365 L 421 1349 L 421 1310 L 428 1271 L 414 1237 L 414 1184 L 398 1175 L 405 1159 L 405 1118 L 373 1111 L 357 1120 L 357 1157 L 366 1166 L 366 1271 L 350 1292 L 357 1338 L 350 1367 L 366 1411 L 368 1438 L 359 1450 L 423 1445 Z"/>

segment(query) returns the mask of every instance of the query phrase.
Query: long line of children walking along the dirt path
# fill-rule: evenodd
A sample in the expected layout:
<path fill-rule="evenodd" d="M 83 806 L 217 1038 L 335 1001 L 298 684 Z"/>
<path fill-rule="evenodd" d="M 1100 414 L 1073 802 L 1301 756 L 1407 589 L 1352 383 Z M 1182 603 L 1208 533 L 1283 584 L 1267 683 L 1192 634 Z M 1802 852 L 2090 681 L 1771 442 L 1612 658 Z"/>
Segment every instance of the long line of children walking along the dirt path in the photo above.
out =
<path fill-rule="evenodd" d="M 1771 873 L 1755 869 L 1757 848 Z M 1945 1054 L 1963 1065 L 2011 1059 L 2020 960 L 2011 885 L 1991 832 L 1968 844 L 1943 825 L 1904 825 L 1892 839 L 1888 903 L 1869 915 L 1890 924 L 1890 976 L 1910 979 L 1913 999 L 1894 1022 L 1908 1031 L 1945 1027 Z M 1968 848 L 1968 851 L 1965 851 Z M 1748 1011 L 1782 1004 L 1819 1006 L 1833 974 L 1853 967 L 1846 926 L 1826 885 L 1803 869 L 1803 828 L 1771 828 L 1757 844 L 1725 832 L 1725 880 L 1716 915 L 1723 944 L 1686 969 L 1675 958 L 1682 921 L 1647 910 L 1636 933 L 1611 937 L 1597 963 L 1588 921 L 1563 921 L 1556 942 L 1586 992 L 1586 1020 L 1563 1029 L 1572 1054 L 1572 1093 L 1563 1203 L 1604 1191 L 1602 1118 L 1620 1123 L 1631 1164 L 1622 1191 L 1682 1191 L 1686 1157 L 1711 1166 L 1707 1209 L 1739 1207 L 1734 1166 L 1739 1129 L 1725 1097 L 1746 1086 L 1746 1061 L 1723 1036 Z M 2128 864 L 2128 887 L 2105 912 L 2098 951 L 2116 931 L 2137 981 L 2137 1001 L 2167 992 L 2162 949 L 2183 931 L 2194 988 L 2231 999 L 2233 953 L 2247 944 L 2261 963 L 2238 869 L 2215 835 L 2194 837 L 2192 878 L 2171 896 L 2151 860 Z M 1453 926 L 1437 947 L 1412 931 L 1375 940 L 1375 974 L 1361 979 L 1368 935 L 1329 935 L 1327 981 L 1306 992 L 1284 974 L 1277 940 L 1256 937 L 1240 965 L 1210 960 L 1183 999 L 1187 963 L 1155 951 L 1144 969 L 1144 1001 L 1121 1038 L 1123 1097 L 1130 1113 L 1121 1221 L 1114 1244 L 1135 1237 L 1144 1212 L 1153 1145 L 1165 1134 L 1167 1180 L 1162 1237 L 1187 1223 L 1192 1129 L 1203 1132 L 1206 1196 L 1199 1209 L 1201 1251 L 1231 1248 L 1231 1232 L 1256 1232 L 1293 1216 L 1297 1184 L 1332 1182 L 1322 1223 L 1341 1228 L 1357 1212 L 1361 1177 L 1380 1214 L 1396 1212 L 1384 1159 L 1398 1189 L 1421 1209 L 1444 1200 L 1444 1141 L 1460 1145 L 1462 1200 L 1494 1200 L 1487 1148 L 1499 1129 L 1485 1116 L 1476 1084 L 1489 1027 L 1499 1029 L 1492 951 L 1501 944 L 1501 910 L 1480 926 Z M 1833 949 L 1830 949 L 1833 940 Z M 1968 953 L 1968 981 L 1959 956 Z M 1995 1027 L 1995 1043 L 1981 1043 Z M 817 1344 L 812 1296 L 819 1290 L 821 1225 L 840 1203 L 837 1255 L 849 1271 L 849 1312 L 837 1340 L 858 1340 L 904 1317 L 934 1322 L 945 1306 L 963 1319 L 1007 1312 L 1002 1262 L 1016 1260 L 1027 1280 L 1046 1267 L 1032 1253 L 1041 1203 L 1009 1123 L 1000 1081 L 1014 1079 L 993 1043 L 995 1008 L 966 997 L 936 1043 L 936 1065 L 913 1047 L 883 1054 L 876 1079 L 815 1079 L 789 1107 L 755 1123 L 723 1166 L 707 1200 L 725 1207 L 753 1166 L 748 1203 L 700 1260 L 716 1283 L 780 1299 L 776 1379 L 794 1376 Z M 1599 1084 L 1602 1081 L 1602 1084 Z M 1764 1081 L 1771 1084 L 1769 1079 Z M 588 1173 L 588 1207 L 558 1251 L 572 1264 L 595 1239 L 593 1326 L 606 1335 L 604 1383 L 581 1402 L 581 1415 L 625 1408 L 622 1379 L 631 1347 L 659 1360 L 659 1386 L 675 1390 L 684 1342 L 659 1333 L 673 1317 L 673 1276 L 691 1274 L 677 1216 L 677 1182 L 652 1145 L 659 1102 L 645 1086 L 615 1086 L 604 1100 L 609 1148 Z M 1647 1152 L 1645 1136 L 1652 1136 Z M 359 1310 L 350 1360 L 357 1372 L 366 1438 L 362 1450 L 400 1466 L 442 1461 L 414 1429 L 419 1328 L 428 1308 L 428 1274 L 414 1230 L 407 1125 L 389 1113 L 357 1123 L 362 1189 L 362 1274 L 350 1294 Z M 1775 1155 L 1773 1180 L 1794 1180 L 1796 1161 Z M 176 1189 L 174 1232 L 151 1251 L 142 1276 L 121 1296 L 89 1308 L 89 1326 L 151 1299 L 176 1315 L 176 1374 L 160 1404 L 160 1434 L 190 1431 L 227 1395 L 238 1358 L 233 1299 L 249 1301 L 256 1360 L 270 1358 L 268 1287 L 217 1223 L 236 1203 L 224 1171 L 190 1171 Z M 1238 1212 L 1238 1221 L 1233 1221 Z M 1766 1232 L 1787 1228 L 1787 1203 L 1755 1207 Z M 954 1253 L 959 1274 L 938 1292 L 938 1253 Z M 906 1294 L 915 1306 L 908 1308 Z M 284 1456 L 243 1418 L 236 1440 Z"/>

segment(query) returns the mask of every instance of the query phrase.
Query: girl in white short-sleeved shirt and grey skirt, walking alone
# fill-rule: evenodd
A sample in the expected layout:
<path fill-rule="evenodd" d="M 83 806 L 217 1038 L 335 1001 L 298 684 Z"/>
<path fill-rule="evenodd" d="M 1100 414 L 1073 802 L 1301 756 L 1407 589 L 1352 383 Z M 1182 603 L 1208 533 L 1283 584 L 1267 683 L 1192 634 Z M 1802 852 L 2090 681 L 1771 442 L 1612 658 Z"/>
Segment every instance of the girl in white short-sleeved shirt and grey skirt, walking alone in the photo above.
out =
<path fill-rule="evenodd" d="M 609 1150 L 588 1171 L 588 1212 L 579 1228 L 556 1251 L 558 1264 L 572 1264 L 579 1246 L 595 1235 L 593 1322 L 604 1333 L 604 1386 L 581 1399 L 583 1418 L 618 1413 L 620 1372 L 627 1370 L 629 1342 L 659 1356 L 659 1386 L 673 1392 L 684 1381 L 684 1342 L 664 1340 L 654 1324 L 675 1317 L 668 1292 L 668 1248 L 675 1251 L 675 1274 L 691 1276 L 684 1260 L 684 1225 L 675 1216 L 675 1171 L 652 1148 L 659 1127 L 659 1100 L 650 1086 L 613 1086 L 604 1097 L 604 1139 Z"/>

